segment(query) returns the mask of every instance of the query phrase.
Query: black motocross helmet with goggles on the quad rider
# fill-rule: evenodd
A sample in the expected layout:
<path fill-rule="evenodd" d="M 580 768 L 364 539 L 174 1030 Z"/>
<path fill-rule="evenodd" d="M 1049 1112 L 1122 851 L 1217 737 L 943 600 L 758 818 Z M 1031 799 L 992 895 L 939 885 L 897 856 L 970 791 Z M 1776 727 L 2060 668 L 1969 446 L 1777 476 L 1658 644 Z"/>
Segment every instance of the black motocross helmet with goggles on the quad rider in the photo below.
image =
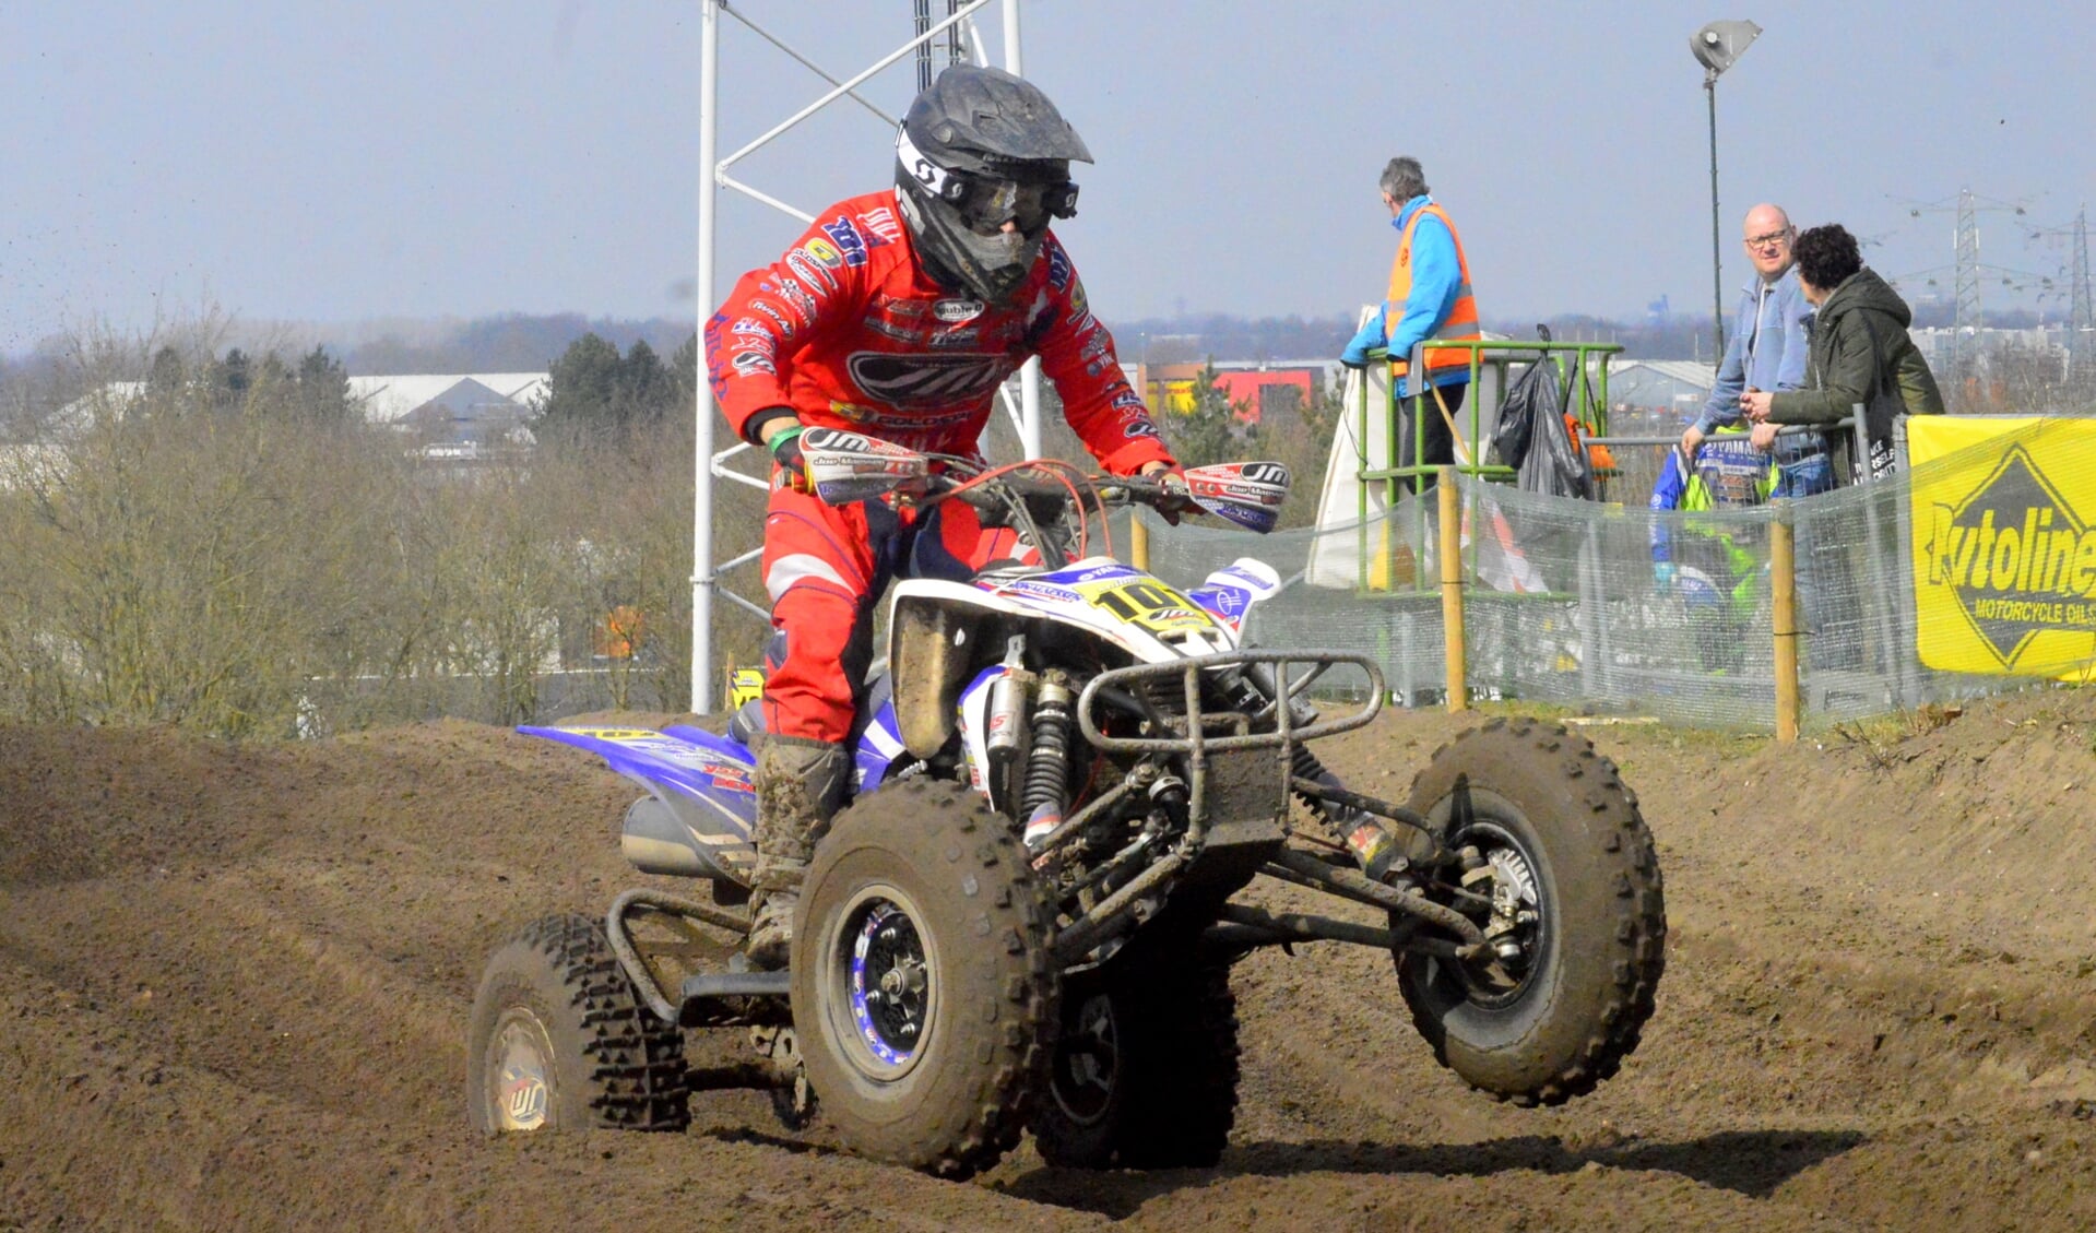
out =
<path fill-rule="evenodd" d="M 939 73 L 895 136 L 897 197 L 933 277 L 1008 300 L 1048 220 L 1077 214 L 1071 161 L 1088 164 L 1092 151 L 1038 86 L 979 65 Z"/>

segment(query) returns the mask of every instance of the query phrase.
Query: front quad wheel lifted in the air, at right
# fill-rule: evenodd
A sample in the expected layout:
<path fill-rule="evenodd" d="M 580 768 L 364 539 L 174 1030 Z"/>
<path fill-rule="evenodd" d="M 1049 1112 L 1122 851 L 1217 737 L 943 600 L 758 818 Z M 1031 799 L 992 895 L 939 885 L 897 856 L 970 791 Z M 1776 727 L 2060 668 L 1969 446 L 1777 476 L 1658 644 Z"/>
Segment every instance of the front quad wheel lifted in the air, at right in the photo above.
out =
<path fill-rule="evenodd" d="M 1660 866 L 1637 797 L 1585 736 L 1499 719 L 1442 747 L 1411 807 L 1444 847 L 1473 849 L 1467 870 L 1427 893 L 1467 908 L 1492 948 L 1480 960 L 1398 954 L 1434 1057 L 1520 1105 L 1591 1093 L 1637 1048 L 1666 965 Z"/>

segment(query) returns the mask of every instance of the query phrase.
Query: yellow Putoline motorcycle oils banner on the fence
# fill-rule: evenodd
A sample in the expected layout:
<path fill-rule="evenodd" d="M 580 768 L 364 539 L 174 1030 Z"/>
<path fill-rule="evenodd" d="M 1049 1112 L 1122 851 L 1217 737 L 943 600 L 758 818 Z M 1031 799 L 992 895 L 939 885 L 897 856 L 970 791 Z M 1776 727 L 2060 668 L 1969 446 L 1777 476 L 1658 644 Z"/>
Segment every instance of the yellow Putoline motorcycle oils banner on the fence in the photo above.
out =
<path fill-rule="evenodd" d="M 1907 419 L 1916 654 L 1939 671 L 2096 671 L 2096 419 Z"/>

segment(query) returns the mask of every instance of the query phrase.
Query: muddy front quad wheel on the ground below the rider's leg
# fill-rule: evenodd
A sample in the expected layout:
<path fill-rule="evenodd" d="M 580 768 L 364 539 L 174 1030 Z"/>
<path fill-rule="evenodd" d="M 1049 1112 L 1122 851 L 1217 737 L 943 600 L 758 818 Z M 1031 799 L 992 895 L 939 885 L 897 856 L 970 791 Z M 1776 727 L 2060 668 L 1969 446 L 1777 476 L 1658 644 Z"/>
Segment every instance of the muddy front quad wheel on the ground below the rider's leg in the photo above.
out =
<path fill-rule="evenodd" d="M 949 1178 L 1008 1151 L 1054 1030 L 1050 916 L 1010 824 L 958 784 L 859 797 L 792 948 L 809 1086 L 855 1151 Z"/>

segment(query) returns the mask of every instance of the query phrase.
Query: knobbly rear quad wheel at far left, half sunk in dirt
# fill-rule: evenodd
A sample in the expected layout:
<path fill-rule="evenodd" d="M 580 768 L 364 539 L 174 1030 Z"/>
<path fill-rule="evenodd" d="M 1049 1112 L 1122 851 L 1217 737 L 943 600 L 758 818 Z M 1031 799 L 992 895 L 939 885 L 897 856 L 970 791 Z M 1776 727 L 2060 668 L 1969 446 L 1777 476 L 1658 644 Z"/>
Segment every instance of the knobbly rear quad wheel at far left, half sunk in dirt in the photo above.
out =
<path fill-rule="evenodd" d="M 683 1034 L 648 1011 L 589 916 L 547 916 L 488 958 L 465 1040 L 490 1134 L 683 1130 Z"/>

